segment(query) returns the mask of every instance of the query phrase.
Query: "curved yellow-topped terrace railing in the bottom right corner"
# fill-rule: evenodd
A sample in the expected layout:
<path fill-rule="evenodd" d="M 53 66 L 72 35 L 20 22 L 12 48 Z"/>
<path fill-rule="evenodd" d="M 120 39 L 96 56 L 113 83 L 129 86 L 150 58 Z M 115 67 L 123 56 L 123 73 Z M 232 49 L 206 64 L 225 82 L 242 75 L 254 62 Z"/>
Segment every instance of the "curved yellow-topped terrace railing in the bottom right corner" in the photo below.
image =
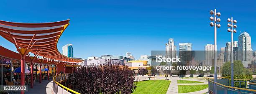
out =
<path fill-rule="evenodd" d="M 242 80 L 242 79 L 238 79 L 238 80 Z M 210 94 L 212 94 L 212 91 L 214 90 L 213 89 L 214 87 L 210 86 L 210 84 L 213 85 L 213 83 L 214 83 L 214 81 L 209 80 L 209 93 Z M 250 89 L 251 86 L 249 86 L 249 89 L 245 89 L 245 88 L 238 88 L 238 87 L 220 84 L 220 83 L 218 83 L 218 81 L 216 82 L 216 84 L 217 84 L 217 94 L 255 94 L 256 93 L 256 89 Z M 256 86 L 256 81 L 253 81 L 251 83 L 249 82 L 248 84 L 249 85 L 254 84 Z"/>

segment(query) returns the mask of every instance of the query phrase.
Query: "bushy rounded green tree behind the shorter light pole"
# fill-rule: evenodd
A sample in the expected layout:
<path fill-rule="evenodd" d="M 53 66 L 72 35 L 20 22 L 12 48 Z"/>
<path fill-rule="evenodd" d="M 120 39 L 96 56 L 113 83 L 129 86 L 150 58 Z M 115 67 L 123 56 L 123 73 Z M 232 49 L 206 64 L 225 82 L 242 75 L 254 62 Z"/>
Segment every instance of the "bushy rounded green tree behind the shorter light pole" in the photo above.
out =
<path fill-rule="evenodd" d="M 225 64 L 223 64 L 222 76 L 231 78 L 230 62 L 226 62 Z M 251 72 L 248 69 L 244 68 L 241 61 L 234 61 L 234 79 L 253 79 Z M 239 82 L 235 82 L 234 86 L 239 87 Z M 242 83 L 241 86 L 243 87 L 245 86 L 245 84 Z"/>

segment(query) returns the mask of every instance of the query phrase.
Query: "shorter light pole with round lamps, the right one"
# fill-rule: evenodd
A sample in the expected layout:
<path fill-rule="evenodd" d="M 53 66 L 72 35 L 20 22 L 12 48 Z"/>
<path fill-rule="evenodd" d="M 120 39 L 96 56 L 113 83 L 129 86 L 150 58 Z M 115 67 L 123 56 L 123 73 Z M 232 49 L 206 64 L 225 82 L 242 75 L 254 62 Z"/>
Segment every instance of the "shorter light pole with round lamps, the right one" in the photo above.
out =
<path fill-rule="evenodd" d="M 236 23 L 236 20 L 233 20 L 233 17 L 228 18 L 228 32 L 231 32 L 231 86 L 234 86 L 234 53 L 233 53 L 233 32 L 236 33 L 236 29 L 233 30 L 233 27 L 236 28 L 237 25 L 233 25 L 233 23 Z"/>

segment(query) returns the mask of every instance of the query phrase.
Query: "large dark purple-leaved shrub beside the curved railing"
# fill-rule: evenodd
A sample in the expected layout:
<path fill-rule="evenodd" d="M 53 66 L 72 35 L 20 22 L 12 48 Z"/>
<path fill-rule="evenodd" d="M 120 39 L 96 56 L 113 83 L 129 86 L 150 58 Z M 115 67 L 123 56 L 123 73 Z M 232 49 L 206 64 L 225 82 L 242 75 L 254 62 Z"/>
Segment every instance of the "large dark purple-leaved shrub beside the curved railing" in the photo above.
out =
<path fill-rule="evenodd" d="M 134 71 L 112 60 L 99 65 L 81 66 L 69 75 L 68 84 L 82 94 L 131 94 L 136 84 Z"/>

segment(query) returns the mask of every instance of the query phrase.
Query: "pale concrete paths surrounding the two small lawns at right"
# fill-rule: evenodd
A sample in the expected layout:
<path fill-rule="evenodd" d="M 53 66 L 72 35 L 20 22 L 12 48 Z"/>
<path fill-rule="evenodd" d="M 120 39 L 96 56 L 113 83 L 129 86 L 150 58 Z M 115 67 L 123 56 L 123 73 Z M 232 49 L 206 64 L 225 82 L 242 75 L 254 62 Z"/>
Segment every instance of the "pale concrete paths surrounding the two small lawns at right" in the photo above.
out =
<path fill-rule="evenodd" d="M 200 81 L 204 83 L 193 83 L 193 84 L 178 84 L 178 80 L 189 80 L 189 81 Z M 198 79 L 180 79 L 179 77 L 172 77 L 171 84 L 166 92 L 166 94 L 204 94 L 208 91 L 207 89 L 203 89 L 200 91 L 189 92 L 189 93 L 178 93 L 178 85 L 199 85 L 199 84 L 208 84 L 206 80 L 198 80 Z"/>

